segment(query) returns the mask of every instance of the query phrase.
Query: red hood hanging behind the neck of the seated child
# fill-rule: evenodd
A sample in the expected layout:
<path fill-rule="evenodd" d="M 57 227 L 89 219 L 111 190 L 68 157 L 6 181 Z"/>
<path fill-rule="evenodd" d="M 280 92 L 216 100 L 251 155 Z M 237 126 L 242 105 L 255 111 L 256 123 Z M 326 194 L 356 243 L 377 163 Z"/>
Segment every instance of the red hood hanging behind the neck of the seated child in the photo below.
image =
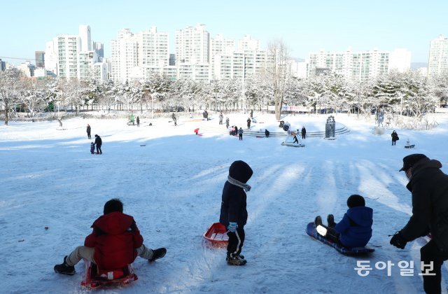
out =
<path fill-rule="evenodd" d="M 126 232 L 133 222 L 134 218 L 132 216 L 121 212 L 111 212 L 110 214 L 97 218 L 92 228 L 97 227 L 109 235 L 120 235 Z"/>

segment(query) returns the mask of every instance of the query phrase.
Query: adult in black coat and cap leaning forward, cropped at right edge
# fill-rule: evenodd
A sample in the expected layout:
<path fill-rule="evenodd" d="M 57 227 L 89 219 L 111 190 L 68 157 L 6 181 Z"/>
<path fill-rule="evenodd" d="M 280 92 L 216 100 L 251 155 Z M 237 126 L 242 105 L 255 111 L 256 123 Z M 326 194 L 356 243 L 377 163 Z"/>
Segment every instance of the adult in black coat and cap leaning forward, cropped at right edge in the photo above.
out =
<path fill-rule="evenodd" d="M 430 160 L 423 154 L 403 158 L 400 172 L 404 171 L 409 179 L 406 188 L 412 193 L 412 216 L 405 228 L 391 239 L 393 246 L 404 249 L 408 241 L 428 233 L 432 235 L 420 249 L 426 293 L 440 293 L 441 267 L 448 259 L 448 175 L 441 167 L 440 161 Z"/>

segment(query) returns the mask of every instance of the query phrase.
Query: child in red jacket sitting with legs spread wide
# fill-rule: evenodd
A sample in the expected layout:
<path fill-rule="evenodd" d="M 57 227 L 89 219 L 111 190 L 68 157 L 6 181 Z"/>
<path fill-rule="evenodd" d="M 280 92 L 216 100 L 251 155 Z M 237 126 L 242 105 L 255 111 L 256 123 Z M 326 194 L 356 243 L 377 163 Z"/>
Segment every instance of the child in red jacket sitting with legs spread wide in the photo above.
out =
<path fill-rule="evenodd" d="M 82 258 L 90 260 L 100 269 L 120 269 L 134 262 L 137 255 L 150 262 L 162 258 L 167 249 L 146 248 L 143 237 L 132 216 L 123 214 L 123 203 L 112 199 L 104 204 L 104 215 L 94 221 L 92 234 L 85 238 L 64 262 L 55 265 L 58 274 L 75 274 L 75 266 Z"/>

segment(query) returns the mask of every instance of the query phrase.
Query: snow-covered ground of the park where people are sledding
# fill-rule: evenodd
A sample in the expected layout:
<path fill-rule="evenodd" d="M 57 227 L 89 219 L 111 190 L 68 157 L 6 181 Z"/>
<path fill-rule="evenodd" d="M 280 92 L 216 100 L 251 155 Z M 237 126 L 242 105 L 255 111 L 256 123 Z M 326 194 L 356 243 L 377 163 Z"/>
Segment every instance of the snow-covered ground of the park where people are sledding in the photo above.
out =
<path fill-rule="evenodd" d="M 137 114 L 136 114 L 137 116 Z M 229 114 L 230 125 L 244 127 L 247 114 Z M 254 113 L 253 129 L 280 132 L 272 115 Z M 448 172 L 448 116 L 428 131 L 396 129 L 400 141 L 391 146 L 392 130 L 372 133 L 372 123 L 338 114 L 336 122 L 349 134 L 334 141 L 304 140 L 305 148 L 281 146 L 282 138 L 244 137 L 239 141 L 218 125 L 216 115 L 142 119 L 141 126 L 125 120 L 15 123 L 0 126 L 0 293 L 78 293 L 85 272 L 55 274 L 53 266 L 83 244 L 90 225 L 102 214 L 104 203 L 119 197 L 125 213 L 134 216 L 145 244 L 165 246 L 165 258 L 148 264 L 134 262 L 139 280 L 109 289 L 123 293 L 421 293 L 419 248 L 405 250 L 389 244 L 388 235 L 400 230 L 411 213 L 407 179 L 398 172 L 402 158 L 425 153 L 442 162 Z M 325 130 L 328 116 L 287 116 L 293 129 Z M 90 154 L 85 127 L 103 139 L 103 155 Z M 200 127 L 203 136 L 193 130 Z M 406 139 L 416 144 L 405 149 Z M 248 223 L 243 249 L 248 263 L 230 267 L 225 249 L 202 238 L 218 221 L 221 191 L 228 168 L 244 160 L 253 168 L 248 182 Z M 367 258 L 337 253 L 305 234 L 318 214 L 336 221 L 346 211 L 351 194 L 366 197 L 374 209 L 376 251 Z M 48 227 L 48 230 L 45 230 Z M 360 276 L 358 260 L 372 270 Z M 414 261 L 410 276 L 400 274 L 404 261 Z M 379 262 L 379 263 L 378 263 Z M 387 269 L 378 269 L 392 262 Z M 447 288 L 448 272 L 443 269 Z M 101 290 L 102 291 L 102 290 Z M 100 292 L 101 292 L 100 291 Z"/>

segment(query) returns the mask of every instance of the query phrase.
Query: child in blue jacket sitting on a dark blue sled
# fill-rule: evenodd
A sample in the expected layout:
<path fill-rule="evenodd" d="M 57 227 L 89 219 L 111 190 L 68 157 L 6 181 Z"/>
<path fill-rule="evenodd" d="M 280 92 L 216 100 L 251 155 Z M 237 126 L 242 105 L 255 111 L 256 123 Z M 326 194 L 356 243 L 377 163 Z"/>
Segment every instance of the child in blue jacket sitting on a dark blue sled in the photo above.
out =
<path fill-rule="evenodd" d="M 347 248 L 363 247 L 372 237 L 373 209 L 365 206 L 364 197 L 351 195 L 347 199 L 349 209 L 344 214 L 342 221 L 335 223 L 332 214 L 328 215 L 328 227 L 322 225 L 321 216 L 316 216 L 314 223 L 316 230 L 323 237 L 335 241 Z M 319 232 L 318 226 L 325 228 Z"/>

